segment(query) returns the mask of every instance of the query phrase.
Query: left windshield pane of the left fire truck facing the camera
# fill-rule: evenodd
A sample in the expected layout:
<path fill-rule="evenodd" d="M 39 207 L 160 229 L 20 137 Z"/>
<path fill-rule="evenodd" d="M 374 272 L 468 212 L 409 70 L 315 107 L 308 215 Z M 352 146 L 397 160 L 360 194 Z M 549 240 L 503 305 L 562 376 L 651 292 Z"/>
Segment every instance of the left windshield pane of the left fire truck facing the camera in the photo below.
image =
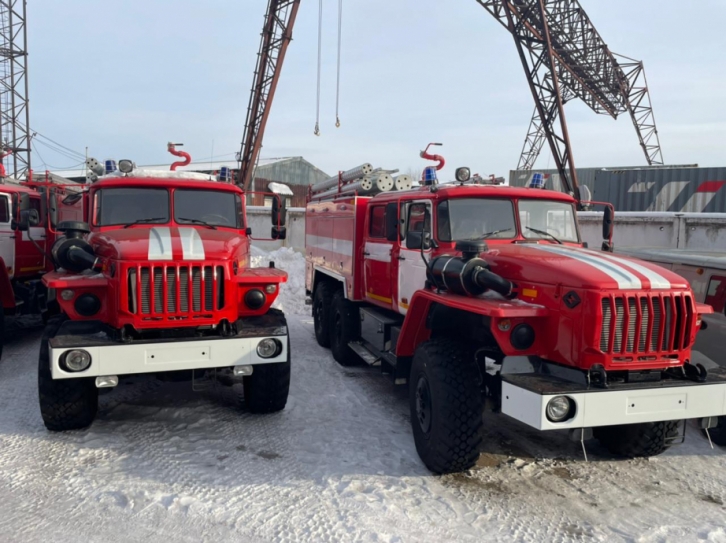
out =
<path fill-rule="evenodd" d="M 169 191 L 152 188 L 108 188 L 96 193 L 95 223 L 112 226 L 169 222 Z"/>

